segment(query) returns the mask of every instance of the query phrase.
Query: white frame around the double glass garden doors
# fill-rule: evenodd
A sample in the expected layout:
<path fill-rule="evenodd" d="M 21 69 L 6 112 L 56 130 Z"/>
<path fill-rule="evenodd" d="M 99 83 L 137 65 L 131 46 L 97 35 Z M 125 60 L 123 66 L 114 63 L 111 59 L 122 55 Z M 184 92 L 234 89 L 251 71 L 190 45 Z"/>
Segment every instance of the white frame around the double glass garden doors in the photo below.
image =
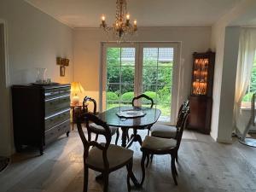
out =
<path fill-rule="evenodd" d="M 135 55 L 135 65 L 137 63 L 143 61 L 143 55 L 140 54 L 141 51 L 143 51 L 143 48 L 145 47 L 170 47 L 170 44 L 172 45 L 174 49 L 174 55 L 173 55 L 173 71 L 172 71 L 172 106 L 171 106 L 171 121 L 164 123 L 164 124 L 175 124 L 176 123 L 176 118 L 177 118 L 177 110 L 180 105 L 180 97 L 181 97 L 181 90 L 183 89 L 183 81 L 181 79 L 182 75 L 182 70 L 183 70 L 183 63 L 181 62 L 181 42 L 178 41 L 164 41 L 164 42 L 150 42 L 150 41 L 137 41 L 133 43 L 116 43 L 116 42 L 102 42 L 101 43 L 101 63 L 100 63 L 100 76 L 99 76 L 99 110 L 102 112 L 104 110 L 103 108 L 103 101 L 106 100 L 106 83 L 107 83 L 107 63 L 106 63 L 106 50 L 108 47 L 134 47 L 137 49 L 136 55 Z M 143 46 L 146 45 L 146 46 Z M 139 79 L 139 75 L 137 73 L 140 73 L 140 71 L 143 68 L 143 65 L 138 66 L 139 69 L 135 71 L 135 82 Z M 138 81 L 139 85 L 134 84 L 134 90 L 135 90 L 135 95 L 137 95 L 137 92 L 139 91 L 139 87 L 142 86 L 142 82 Z M 175 90 L 175 91 L 173 91 Z"/>

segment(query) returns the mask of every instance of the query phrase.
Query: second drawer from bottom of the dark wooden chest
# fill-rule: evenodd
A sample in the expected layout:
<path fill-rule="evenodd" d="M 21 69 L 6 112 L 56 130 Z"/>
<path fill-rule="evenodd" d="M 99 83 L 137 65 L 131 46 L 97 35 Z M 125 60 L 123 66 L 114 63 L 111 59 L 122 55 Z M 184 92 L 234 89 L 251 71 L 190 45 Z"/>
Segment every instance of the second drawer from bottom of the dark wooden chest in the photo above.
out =
<path fill-rule="evenodd" d="M 45 131 L 49 130 L 49 128 L 51 128 L 55 125 L 61 124 L 61 122 L 66 121 L 67 119 L 70 119 L 69 108 L 45 118 Z"/>

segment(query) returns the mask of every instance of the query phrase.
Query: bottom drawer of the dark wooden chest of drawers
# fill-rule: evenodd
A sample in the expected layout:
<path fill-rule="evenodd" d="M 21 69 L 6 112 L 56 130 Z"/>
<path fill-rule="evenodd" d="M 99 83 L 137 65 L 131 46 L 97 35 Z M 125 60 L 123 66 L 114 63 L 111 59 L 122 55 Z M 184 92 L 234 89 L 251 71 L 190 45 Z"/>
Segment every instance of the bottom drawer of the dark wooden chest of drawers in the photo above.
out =
<path fill-rule="evenodd" d="M 60 137 L 64 133 L 67 133 L 67 131 L 70 130 L 70 120 L 68 119 L 67 121 L 55 125 L 51 129 L 45 131 L 45 144 L 51 143 L 55 141 L 56 138 Z"/>

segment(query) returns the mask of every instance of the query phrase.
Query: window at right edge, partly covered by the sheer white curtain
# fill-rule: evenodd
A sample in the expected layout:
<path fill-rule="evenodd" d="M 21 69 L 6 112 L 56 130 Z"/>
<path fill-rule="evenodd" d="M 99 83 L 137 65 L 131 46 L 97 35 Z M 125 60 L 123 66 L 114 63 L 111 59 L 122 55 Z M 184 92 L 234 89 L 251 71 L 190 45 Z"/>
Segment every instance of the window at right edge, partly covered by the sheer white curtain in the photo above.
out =
<path fill-rule="evenodd" d="M 253 93 L 255 92 L 256 92 L 256 53 L 254 56 L 250 83 L 248 85 L 246 95 L 242 98 L 241 108 L 251 108 L 251 99 L 252 99 Z"/>

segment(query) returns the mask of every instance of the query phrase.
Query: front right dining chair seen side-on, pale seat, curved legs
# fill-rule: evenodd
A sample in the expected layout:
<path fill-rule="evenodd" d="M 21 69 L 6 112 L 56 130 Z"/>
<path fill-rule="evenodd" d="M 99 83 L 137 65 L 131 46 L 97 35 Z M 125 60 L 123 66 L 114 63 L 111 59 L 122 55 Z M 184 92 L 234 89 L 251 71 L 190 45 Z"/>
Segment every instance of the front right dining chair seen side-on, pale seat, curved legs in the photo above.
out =
<path fill-rule="evenodd" d="M 152 137 L 146 136 L 141 151 L 143 152 L 143 157 L 141 160 L 143 177 L 141 181 L 141 185 L 143 185 L 145 179 L 145 160 L 149 154 L 171 154 L 171 168 L 172 168 L 172 177 L 174 183 L 177 185 L 177 169 L 175 165 L 175 159 L 177 155 L 177 150 L 180 146 L 183 130 L 187 126 L 188 115 L 190 113 L 190 108 L 187 107 L 181 112 L 181 116 L 183 116 L 183 120 L 181 122 L 180 131 L 177 132 L 176 139 L 173 138 L 160 138 L 160 137 Z"/>

